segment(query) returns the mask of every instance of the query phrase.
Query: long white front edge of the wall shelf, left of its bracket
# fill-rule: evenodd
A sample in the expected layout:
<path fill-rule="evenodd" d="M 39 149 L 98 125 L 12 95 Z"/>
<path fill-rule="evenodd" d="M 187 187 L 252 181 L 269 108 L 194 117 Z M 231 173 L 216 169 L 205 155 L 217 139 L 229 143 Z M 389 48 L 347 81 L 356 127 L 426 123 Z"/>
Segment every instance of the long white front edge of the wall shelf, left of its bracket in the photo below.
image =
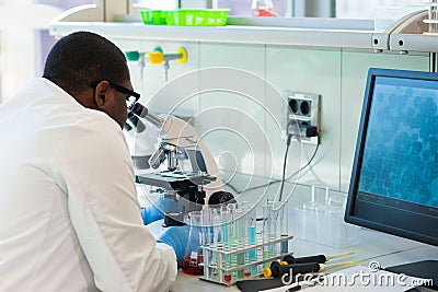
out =
<path fill-rule="evenodd" d="M 160 26 L 142 23 L 57 22 L 50 34 L 62 36 L 76 31 L 92 31 L 130 39 L 211 42 L 372 49 L 373 31 L 321 30 L 265 26 Z"/>

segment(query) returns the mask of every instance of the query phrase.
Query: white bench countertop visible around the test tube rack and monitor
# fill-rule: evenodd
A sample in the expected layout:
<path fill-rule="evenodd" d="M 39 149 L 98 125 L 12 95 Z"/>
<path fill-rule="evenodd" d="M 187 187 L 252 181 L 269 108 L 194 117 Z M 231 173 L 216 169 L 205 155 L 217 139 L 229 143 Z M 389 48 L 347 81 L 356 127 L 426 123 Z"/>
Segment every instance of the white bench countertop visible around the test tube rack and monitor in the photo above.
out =
<path fill-rule="evenodd" d="M 222 175 L 227 176 L 226 173 Z M 250 179 L 251 177 L 251 179 Z M 226 185 L 224 189 L 235 194 L 235 190 L 243 189 L 243 186 L 251 189 L 247 192 L 242 192 L 237 196 L 239 201 L 256 201 L 260 200 L 260 203 L 267 199 L 273 199 L 275 194 L 277 192 L 278 185 L 272 184 L 266 188 L 261 189 L 252 189 L 255 186 L 262 186 L 266 183 L 270 182 L 265 177 L 257 176 L 247 176 L 245 174 L 237 174 L 235 177 L 229 182 L 233 186 L 233 190 Z M 141 194 L 150 191 L 148 186 L 137 185 L 138 192 Z M 304 257 L 312 255 L 338 255 L 344 253 L 354 252 L 353 255 L 343 257 L 339 259 L 333 259 L 327 264 L 339 262 L 339 261 L 356 261 L 362 260 L 364 262 L 360 266 L 366 267 L 366 271 L 368 271 L 368 265 L 371 261 L 378 261 L 380 267 L 387 268 L 391 266 L 397 266 L 419 260 L 438 260 L 438 247 L 430 246 L 426 244 L 422 244 L 415 241 L 402 238 L 399 236 L 390 235 L 387 233 L 355 226 L 359 234 L 358 244 L 348 245 L 344 244 L 343 247 L 335 247 L 336 245 L 327 245 L 327 244 L 319 244 L 314 241 L 302 240 L 301 237 L 297 237 L 297 207 L 301 206 L 303 202 L 309 201 L 311 198 L 311 186 L 301 185 L 301 184 L 290 184 L 286 183 L 284 192 L 291 194 L 288 199 L 288 219 L 289 219 L 289 234 L 295 237 L 289 241 L 289 253 L 292 253 L 295 257 Z M 323 188 L 316 190 L 316 200 L 318 196 L 323 196 Z M 319 192 L 320 191 L 320 192 Z M 346 192 L 330 190 L 331 195 L 339 195 L 347 196 Z M 140 202 L 142 201 L 145 205 L 149 203 L 148 199 L 145 196 L 139 196 Z M 258 214 L 258 213 L 257 213 Z M 260 217 L 260 214 L 258 214 Z M 257 217 L 257 218 L 258 218 Z M 159 229 L 161 227 L 161 224 Z M 353 226 L 353 225 L 351 225 Z M 155 227 L 150 226 L 152 233 L 160 233 Z M 351 266 L 344 266 L 327 269 L 324 272 L 339 272 L 343 269 L 350 268 Z M 178 275 L 176 281 L 171 291 L 174 292 L 193 292 L 193 291 L 240 291 L 239 288 L 234 284 L 231 287 L 214 283 L 210 281 L 201 280 L 198 276 L 189 276 L 178 270 Z M 382 289 L 381 291 L 384 291 Z M 393 290 L 391 290 L 393 291 Z"/>

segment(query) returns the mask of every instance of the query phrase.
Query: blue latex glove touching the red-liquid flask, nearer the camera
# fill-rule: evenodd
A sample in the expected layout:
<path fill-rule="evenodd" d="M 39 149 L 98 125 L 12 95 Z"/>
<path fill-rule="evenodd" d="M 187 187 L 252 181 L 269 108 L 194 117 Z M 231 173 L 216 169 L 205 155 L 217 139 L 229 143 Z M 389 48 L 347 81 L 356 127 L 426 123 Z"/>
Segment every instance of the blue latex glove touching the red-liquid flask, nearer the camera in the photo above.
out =
<path fill-rule="evenodd" d="M 184 259 L 189 231 L 191 226 L 188 225 L 171 226 L 166 227 L 164 232 L 157 238 L 157 242 L 165 243 L 173 248 L 173 250 L 176 254 L 176 261 L 178 268 L 181 268 Z"/>

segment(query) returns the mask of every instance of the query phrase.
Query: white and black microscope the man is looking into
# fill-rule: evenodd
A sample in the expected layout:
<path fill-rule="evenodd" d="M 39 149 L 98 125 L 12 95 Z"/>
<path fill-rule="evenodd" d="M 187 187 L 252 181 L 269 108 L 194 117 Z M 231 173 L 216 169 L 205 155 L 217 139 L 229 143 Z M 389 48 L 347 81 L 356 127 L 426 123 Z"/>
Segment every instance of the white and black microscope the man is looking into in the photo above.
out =
<path fill-rule="evenodd" d="M 165 225 L 182 222 L 184 214 L 205 206 L 235 201 L 230 192 L 223 191 L 215 159 L 192 125 L 172 115 L 150 113 L 139 103 L 131 114 L 152 125 L 150 135 L 158 138 L 158 147 L 148 161 L 158 171 L 138 174 L 136 183 L 154 186 L 157 192 L 176 201 L 178 212 L 166 217 Z"/>

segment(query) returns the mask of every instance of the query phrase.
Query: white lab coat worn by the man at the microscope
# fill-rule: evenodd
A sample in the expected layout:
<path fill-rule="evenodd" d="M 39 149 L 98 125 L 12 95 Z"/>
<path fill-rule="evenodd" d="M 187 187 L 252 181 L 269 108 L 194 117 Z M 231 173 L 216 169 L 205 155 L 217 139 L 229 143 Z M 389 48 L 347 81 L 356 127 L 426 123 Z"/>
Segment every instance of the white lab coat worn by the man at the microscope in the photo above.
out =
<path fill-rule="evenodd" d="M 165 291 L 120 127 L 48 80 L 0 104 L 0 291 Z"/>

